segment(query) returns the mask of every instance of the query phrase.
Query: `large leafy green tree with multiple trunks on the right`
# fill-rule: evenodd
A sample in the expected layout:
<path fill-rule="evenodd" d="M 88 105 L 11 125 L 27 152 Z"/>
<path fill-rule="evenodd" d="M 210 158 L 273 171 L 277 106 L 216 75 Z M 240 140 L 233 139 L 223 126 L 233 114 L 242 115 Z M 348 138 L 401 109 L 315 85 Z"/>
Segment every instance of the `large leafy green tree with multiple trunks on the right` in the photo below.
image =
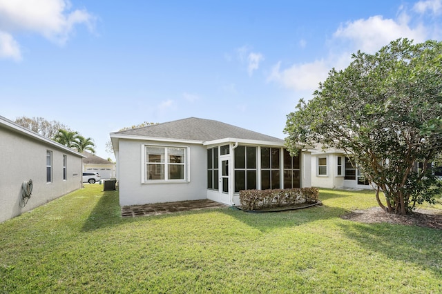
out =
<path fill-rule="evenodd" d="M 291 153 L 316 144 L 345 150 L 389 212 L 433 203 L 441 193 L 429 166 L 442 151 L 442 42 L 398 39 L 374 55 L 358 51 L 287 115 L 285 133 Z"/>

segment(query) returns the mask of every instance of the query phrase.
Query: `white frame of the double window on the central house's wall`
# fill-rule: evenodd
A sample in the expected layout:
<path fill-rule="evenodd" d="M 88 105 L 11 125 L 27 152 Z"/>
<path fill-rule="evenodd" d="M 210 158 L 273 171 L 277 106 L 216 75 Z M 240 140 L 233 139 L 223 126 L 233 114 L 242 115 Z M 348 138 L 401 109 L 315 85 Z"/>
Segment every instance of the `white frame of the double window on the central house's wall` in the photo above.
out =
<path fill-rule="evenodd" d="M 162 165 L 164 166 L 164 179 L 148 179 L 148 162 L 146 156 L 146 148 L 164 148 L 164 162 Z M 169 161 L 169 148 L 182 148 L 184 149 L 184 162 L 179 165 L 184 166 L 184 179 L 169 179 L 169 166 L 172 164 Z M 143 184 L 155 184 L 155 183 L 187 183 L 190 182 L 190 148 L 187 146 L 171 146 L 171 145 L 151 145 L 151 144 L 142 144 L 142 183 Z M 160 164 L 158 164 L 160 165 Z"/>

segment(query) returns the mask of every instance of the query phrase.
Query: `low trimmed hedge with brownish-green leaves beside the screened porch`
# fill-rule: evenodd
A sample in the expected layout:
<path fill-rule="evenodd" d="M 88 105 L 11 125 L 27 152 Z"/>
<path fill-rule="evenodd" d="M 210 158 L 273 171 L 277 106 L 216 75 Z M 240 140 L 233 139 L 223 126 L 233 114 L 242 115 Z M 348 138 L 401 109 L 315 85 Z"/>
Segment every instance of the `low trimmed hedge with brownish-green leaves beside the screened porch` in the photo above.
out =
<path fill-rule="evenodd" d="M 291 188 L 273 190 L 240 190 L 244 210 L 260 210 L 296 204 L 318 202 L 318 188 Z"/>

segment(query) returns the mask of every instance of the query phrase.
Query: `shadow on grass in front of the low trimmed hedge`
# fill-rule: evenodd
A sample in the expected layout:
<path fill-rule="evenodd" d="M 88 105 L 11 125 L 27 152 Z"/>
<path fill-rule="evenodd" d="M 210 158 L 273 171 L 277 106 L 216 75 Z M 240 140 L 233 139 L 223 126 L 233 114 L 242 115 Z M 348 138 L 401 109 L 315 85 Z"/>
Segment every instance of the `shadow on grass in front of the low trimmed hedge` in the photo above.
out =
<path fill-rule="evenodd" d="M 289 228 L 309 222 L 339 217 L 347 213 L 348 210 L 323 205 L 276 213 L 247 213 L 236 209 L 225 209 L 222 212 L 264 233 L 276 228 Z"/>

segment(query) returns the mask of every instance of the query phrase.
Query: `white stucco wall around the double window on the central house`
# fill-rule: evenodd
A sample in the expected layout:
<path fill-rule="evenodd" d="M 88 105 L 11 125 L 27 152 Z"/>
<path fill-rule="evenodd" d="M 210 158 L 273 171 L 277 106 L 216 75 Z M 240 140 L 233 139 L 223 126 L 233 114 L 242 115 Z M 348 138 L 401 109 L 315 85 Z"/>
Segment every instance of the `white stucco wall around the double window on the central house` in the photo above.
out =
<path fill-rule="evenodd" d="M 189 147 L 189 182 L 142 183 L 144 144 Z M 206 199 L 206 148 L 198 144 L 119 139 L 117 178 L 121 206 Z"/>

